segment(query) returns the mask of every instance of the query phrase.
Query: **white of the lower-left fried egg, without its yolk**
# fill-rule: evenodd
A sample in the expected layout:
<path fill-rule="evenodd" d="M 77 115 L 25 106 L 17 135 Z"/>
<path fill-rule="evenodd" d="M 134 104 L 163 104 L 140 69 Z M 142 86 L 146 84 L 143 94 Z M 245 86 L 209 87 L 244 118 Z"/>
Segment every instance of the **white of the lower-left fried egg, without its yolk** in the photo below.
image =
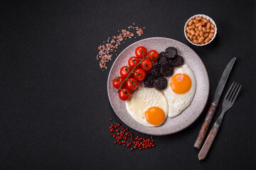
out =
<path fill-rule="evenodd" d="M 165 118 L 167 118 L 169 111 L 168 102 L 164 94 L 157 89 L 146 88 L 144 86 L 139 86 L 137 91 L 132 95 L 132 98 L 129 99 L 129 101 L 126 101 L 126 107 L 134 120 L 149 127 L 155 127 L 156 125 L 151 125 L 146 121 L 144 113 L 148 108 L 161 108 L 165 113 Z"/>

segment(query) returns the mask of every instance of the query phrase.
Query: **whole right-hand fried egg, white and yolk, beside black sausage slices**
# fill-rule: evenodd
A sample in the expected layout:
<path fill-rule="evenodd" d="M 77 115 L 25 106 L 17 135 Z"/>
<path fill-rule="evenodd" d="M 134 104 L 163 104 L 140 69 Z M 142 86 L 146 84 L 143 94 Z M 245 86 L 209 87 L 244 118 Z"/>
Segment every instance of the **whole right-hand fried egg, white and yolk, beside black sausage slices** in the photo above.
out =
<path fill-rule="evenodd" d="M 167 87 L 162 92 L 169 105 L 169 118 L 174 118 L 191 104 L 196 94 L 196 77 L 187 64 L 174 69 L 171 77 L 166 77 Z"/>

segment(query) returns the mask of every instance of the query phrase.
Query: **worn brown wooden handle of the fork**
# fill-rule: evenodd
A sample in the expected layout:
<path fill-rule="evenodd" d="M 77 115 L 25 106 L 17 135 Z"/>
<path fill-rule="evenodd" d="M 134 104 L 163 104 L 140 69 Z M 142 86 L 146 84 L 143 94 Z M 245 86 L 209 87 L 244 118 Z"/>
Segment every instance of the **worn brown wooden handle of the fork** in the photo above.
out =
<path fill-rule="evenodd" d="M 203 144 L 203 147 L 198 154 L 199 160 L 206 158 L 206 155 L 208 154 L 210 146 L 213 144 L 213 140 L 215 139 L 215 136 L 217 135 L 217 132 L 219 129 L 220 129 L 220 124 L 218 122 L 214 123 L 213 128 L 210 130 L 210 133 L 206 139 L 206 142 Z"/>

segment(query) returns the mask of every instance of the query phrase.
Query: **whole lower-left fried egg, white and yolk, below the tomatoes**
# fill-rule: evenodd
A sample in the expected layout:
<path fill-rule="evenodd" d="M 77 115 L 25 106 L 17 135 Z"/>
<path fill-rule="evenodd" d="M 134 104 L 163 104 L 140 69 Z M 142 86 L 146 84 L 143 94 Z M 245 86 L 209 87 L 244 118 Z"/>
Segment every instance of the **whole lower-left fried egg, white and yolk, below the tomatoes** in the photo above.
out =
<path fill-rule="evenodd" d="M 140 86 L 126 101 L 129 114 L 142 125 L 149 127 L 164 123 L 168 115 L 168 102 L 161 91 Z"/>

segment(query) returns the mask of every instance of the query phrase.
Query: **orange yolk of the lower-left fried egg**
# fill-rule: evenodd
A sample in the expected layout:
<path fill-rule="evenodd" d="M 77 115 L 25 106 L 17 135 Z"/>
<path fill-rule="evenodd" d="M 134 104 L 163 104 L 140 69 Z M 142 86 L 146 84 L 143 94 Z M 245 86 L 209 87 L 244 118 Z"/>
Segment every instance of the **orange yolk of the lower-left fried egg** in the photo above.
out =
<path fill-rule="evenodd" d="M 161 108 L 151 107 L 146 110 L 145 118 L 151 125 L 161 125 L 166 117 Z"/>

